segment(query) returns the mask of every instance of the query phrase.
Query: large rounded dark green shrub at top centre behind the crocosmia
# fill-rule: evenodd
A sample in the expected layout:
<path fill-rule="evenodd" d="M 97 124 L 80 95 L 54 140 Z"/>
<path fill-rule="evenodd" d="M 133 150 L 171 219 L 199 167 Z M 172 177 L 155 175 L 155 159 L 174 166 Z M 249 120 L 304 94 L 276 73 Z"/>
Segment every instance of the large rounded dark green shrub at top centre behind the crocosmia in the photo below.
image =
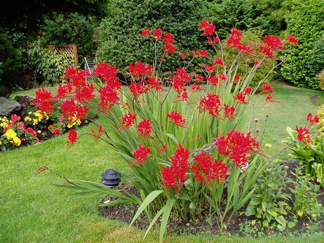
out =
<path fill-rule="evenodd" d="M 99 60 L 109 61 L 120 68 L 137 61 L 151 64 L 154 57 L 151 43 L 138 38 L 143 28 L 160 28 L 174 34 L 178 52 L 206 48 L 199 42 L 201 36 L 197 31 L 200 20 L 207 16 L 201 0 L 119 0 L 117 7 L 116 18 L 101 22 Z M 173 70 L 179 65 L 179 58 L 172 55 L 164 63 L 165 70 Z"/>

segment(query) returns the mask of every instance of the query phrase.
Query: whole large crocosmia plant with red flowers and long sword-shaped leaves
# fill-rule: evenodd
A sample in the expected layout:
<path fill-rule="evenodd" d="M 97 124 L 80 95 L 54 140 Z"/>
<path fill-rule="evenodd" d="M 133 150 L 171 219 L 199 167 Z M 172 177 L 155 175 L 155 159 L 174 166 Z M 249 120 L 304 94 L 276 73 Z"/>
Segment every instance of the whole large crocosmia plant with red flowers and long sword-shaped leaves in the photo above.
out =
<path fill-rule="evenodd" d="M 100 62 L 91 75 L 69 67 L 66 84 L 59 86 L 56 96 L 45 89 L 36 93 L 35 102 L 48 114 L 52 102 L 62 100 L 62 120 L 70 125 L 87 117 L 90 107 L 101 113 L 105 124 L 94 121 L 97 130 L 89 134 L 107 142 L 125 159 L 135 175 L 135 179 L 126 179 L 141 197 L 97 183 L 69 182 L 83 195 L 117 198 L 105 206 L 138 204 L 132 223 L 145 210 L 151 221 L 148 230 L 161 217 L 160 240 L 171 212 L 187 222 L 203 217 L 203 209 L 208 208 L 210 214 L 216 212 L 223 228 L 247 203 L 266 164 L 260 159 L 266 154 L 255 136 L 242 129 L 251 96 L 259 87 L 266 101 L 275 101 L 270 85 L 260 80 L 257 87 L 251 87 L 250 82 L 265 58 L 274 58 L 284 42 L 269 35 L 260 44 L 242 44 L 242 33 L 235 28 L 221 41 L 216 26 L 208 20 L 201 21 L 198 30 L 217 56 L 208 50 L 179 53 L 172 33 L 143 29 L 139 38 L 152 42 L 155 50 L 152 64 L 138 61 L 119 69 Z M 225 46 L 237 51 L 233 63 L 224 61 Z M 178 55 L 183 65 L 161 72 L 170 55 Z M 246 73 L 237 73 L 237 67 L 245 65 L 240 63 L 242 55 L 249 55 L 255 65 Z M 68 147 L 79 136 L 70 130 Z"/>

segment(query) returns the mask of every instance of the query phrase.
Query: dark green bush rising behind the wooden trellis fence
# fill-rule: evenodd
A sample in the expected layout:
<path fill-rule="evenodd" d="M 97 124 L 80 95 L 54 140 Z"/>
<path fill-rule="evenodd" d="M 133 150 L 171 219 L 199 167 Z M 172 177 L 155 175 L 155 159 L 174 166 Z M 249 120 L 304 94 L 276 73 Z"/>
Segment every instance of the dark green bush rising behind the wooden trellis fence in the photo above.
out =
<path fill-rule="evenodd" d="M 74 13 L 67 17 L 54 14 L 42 25 L 42 45 L 77 44 L 79 62 L 85 57 L 93 57 L 96 51 L 95 25 L 90 19 Z"/>

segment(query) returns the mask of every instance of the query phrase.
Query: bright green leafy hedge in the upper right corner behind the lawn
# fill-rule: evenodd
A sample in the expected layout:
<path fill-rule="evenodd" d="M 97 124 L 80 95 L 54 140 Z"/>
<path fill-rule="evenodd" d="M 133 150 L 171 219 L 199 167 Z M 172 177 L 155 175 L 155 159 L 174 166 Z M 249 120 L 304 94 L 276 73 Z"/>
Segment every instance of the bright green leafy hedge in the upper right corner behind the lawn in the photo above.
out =
<path fill-rule="evenodd" d="M 298 36 L 298 46 L 282 55 L 285 65 L 281 74 L 297 87 L 318 89 L 316 75 L 323 69 L 324 57 L 323 41 L 316 43 L 324 35 L 322 6 L 323 0 L 294 1 L 292 10 L 285 15 L 287 32 Z M 314 50 L 319 50 L 318 54 Z"/>

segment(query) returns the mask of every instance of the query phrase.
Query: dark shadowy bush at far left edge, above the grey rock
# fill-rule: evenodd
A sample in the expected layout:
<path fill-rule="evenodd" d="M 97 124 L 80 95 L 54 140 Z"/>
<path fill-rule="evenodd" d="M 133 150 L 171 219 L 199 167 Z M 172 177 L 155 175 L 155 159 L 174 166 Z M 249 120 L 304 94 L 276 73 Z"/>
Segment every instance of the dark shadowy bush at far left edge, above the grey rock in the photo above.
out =
<path fill-rule="evenodd" d="M 12 46 L 6 33 L 0 33 L 0 85 L 14 87 L 21 74 L 21 53 Z"/>

